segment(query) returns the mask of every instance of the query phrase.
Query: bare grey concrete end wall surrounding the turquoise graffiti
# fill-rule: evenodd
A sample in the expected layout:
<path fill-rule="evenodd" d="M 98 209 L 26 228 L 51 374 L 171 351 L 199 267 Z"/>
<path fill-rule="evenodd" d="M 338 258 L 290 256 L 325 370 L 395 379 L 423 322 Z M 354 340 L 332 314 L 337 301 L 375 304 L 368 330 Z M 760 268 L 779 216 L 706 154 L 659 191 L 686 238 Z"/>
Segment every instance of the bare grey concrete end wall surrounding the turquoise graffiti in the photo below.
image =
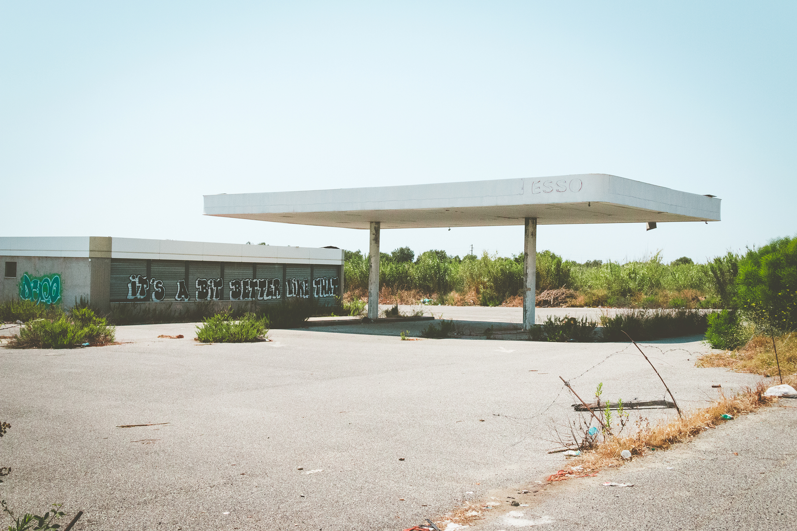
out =
<path fill-rule="evenodd" d="M 73 256 L 0 256 L 0 267 L 6 262 L 17 263 L 17 276 L 0 279 L 0 300 L 20 299 L 20 282 L 27 273 L 30 278 L 59 275 L 61 298 L 57 304 L 65 308 L 75 305 L 75 300 L 91 298 L 91 267 L 87 258 Z"/>

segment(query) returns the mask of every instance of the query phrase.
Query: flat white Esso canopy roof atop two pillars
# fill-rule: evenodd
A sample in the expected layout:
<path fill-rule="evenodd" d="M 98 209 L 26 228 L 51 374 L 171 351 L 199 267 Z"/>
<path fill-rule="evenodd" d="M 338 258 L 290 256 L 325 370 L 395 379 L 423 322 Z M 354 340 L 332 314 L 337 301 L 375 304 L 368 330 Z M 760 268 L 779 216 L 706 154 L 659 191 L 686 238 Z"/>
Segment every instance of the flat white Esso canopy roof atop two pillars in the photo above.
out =
<path fill-rule="evenodd" d="M 206 216 L 369 228 L 720 221 L 720 199 L 607 174 L 206 195 Z"/>

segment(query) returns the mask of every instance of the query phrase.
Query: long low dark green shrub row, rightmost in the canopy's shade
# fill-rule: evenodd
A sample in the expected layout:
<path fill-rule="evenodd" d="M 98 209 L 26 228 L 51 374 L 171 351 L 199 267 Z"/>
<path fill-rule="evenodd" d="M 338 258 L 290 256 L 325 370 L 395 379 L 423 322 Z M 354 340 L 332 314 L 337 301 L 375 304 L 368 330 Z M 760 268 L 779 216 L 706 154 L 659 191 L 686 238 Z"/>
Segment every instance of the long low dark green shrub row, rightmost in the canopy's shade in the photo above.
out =
<path fill-rule="evenodd" d="M 703 334 L 706 314 L 699 310 L 626 310 L 614 317 L 601 315 L 603 341 L 627 342 Z M 623 334 L 625 332 L 625 334 Z M 628 336 L 626 336 L 628 334 Z"/>

